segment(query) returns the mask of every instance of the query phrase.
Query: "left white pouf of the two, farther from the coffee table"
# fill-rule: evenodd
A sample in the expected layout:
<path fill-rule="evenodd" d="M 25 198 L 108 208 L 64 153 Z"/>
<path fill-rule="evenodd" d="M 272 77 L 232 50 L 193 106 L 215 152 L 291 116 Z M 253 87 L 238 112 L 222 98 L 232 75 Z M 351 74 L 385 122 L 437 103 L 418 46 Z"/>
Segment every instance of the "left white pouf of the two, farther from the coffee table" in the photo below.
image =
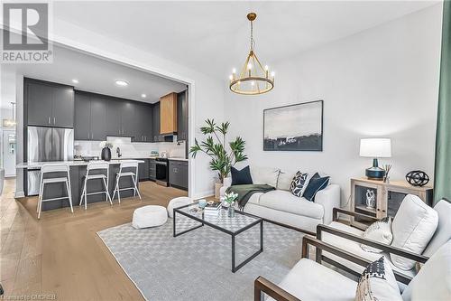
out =
<path fill-rule="evenodd" d="M 168 221 L 166 208 L 148 205 L 137 208 L 133 212 L 132 226 L 134 229 L 161 226 Z"/>

